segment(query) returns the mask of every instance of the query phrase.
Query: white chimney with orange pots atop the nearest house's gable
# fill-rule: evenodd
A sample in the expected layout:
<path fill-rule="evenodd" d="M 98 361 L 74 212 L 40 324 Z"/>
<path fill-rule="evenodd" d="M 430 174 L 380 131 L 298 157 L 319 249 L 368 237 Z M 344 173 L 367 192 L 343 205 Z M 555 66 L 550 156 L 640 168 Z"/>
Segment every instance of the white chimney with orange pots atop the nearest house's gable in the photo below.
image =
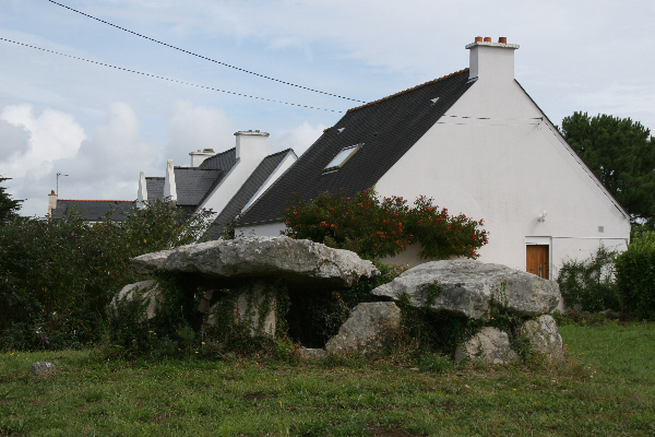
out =
<path fill-rule="evenodd" d="M 490 37 L 475 37 L 475 43 L 466 46 L 471 50 L 468 78 L 484 81 L 514 80 L 514 50 L 517 44 L 508 44 L 508 38 L 501 36 L 498 43 L 491 43 Z"/>

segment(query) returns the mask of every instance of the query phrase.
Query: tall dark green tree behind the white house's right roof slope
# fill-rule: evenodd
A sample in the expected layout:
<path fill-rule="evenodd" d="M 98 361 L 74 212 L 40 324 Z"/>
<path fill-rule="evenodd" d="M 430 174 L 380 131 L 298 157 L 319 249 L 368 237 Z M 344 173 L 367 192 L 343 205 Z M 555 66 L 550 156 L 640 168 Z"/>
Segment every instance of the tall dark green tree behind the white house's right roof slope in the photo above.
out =
<path fill-rule="evenodd" d="M 655 139 L 630 118 L 574 113 L 562 134 L 632 222 L 655 222 Z"/>

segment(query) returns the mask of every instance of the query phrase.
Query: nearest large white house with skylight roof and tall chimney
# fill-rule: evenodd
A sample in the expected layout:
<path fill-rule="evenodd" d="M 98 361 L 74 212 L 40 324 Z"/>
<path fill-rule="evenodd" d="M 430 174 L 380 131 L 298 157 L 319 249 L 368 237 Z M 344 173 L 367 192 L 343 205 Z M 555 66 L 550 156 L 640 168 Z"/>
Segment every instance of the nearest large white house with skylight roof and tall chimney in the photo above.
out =
<path fill-rule="evenodd" d="M 374 187 L 484 218 L 481 261 L 544 277 L 600 245 L 624 250 L 630 216 L 515 81 L 519 46 L 476 37 L 466 48 L 468 69 L 348 110 L 245 211 L 240 229 L 278 235 L 291 193 Z M 393 260 L 425 262 L 417 251 Z"/>

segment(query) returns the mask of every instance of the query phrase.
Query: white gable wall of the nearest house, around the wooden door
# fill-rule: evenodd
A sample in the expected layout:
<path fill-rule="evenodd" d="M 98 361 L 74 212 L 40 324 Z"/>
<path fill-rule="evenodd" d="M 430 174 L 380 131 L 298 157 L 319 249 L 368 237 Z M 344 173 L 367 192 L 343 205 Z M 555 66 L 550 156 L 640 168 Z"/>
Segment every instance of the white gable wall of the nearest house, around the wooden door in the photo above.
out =
<path fill-rule="evenodd" d="M 513 79 L 480 76 L 445 116 L 378 181 L 380 196 L 426 194 L 451 214 L 484 218 L 485 262 L 524 270 L 526 237 L 551 237 L 551 277 L 600 244 L 626 248 L 629 218 L 553 128 L 532 119 L 543 115 Z"/>

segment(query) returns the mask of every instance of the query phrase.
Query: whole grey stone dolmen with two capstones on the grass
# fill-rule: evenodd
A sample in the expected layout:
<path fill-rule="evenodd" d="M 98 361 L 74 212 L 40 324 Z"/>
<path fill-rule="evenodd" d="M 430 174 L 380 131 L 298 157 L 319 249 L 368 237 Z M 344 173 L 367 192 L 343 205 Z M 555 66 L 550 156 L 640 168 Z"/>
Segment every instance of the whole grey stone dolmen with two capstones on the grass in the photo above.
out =
<path fill-rule="evenodd" d="M 274 335 L 277 324 L 272 282 L 282 281 L 289 290 L 335 291 L 380 274 L 372 262 L 355 252 L 285 236 L 181 246 L 136 257 L 132 269 L 140 274 L 180 273 L 205 284 L 227 284 L 235 291 L 229 303 L 234 321 L 247 323 L 251 334 L 266 335 Z M 131 299 L 138 291 L 147 304 L 144 318 L 155 317 L 156 303 L 162 297 L 152 280 L 126 286 L 111 308 L 121 299 Z M 396 341 L 401 329 L 401 310 L 394 302 L 405 299 L 429 311 L 480 320 L 483 328 L 457 346 L 455 361 L 515 361 L 520 355 L 512 350 L 510 335 L 527 339 L 533 351 L 549 359 L 563 358 L 562 340 L 551 316 L 561 299 L 555 281 L 505 265 L 456 259 L 419 264 L 374 288 L 372 294 L 384 302 L 359 304 L 324 349 L 301 349 L 300 356 L 320 359 L 327 354 L 383 350 Z M 209 315 L 210 323 L 216 322 L 211 315 L 217 305 L 225 303 L 215 303 L 211 291 L 200 303 L 199 310 Z M 514 332 L 503 332 L 493 326 L 495 311 L 514 315 L 522 324 Z"/>

